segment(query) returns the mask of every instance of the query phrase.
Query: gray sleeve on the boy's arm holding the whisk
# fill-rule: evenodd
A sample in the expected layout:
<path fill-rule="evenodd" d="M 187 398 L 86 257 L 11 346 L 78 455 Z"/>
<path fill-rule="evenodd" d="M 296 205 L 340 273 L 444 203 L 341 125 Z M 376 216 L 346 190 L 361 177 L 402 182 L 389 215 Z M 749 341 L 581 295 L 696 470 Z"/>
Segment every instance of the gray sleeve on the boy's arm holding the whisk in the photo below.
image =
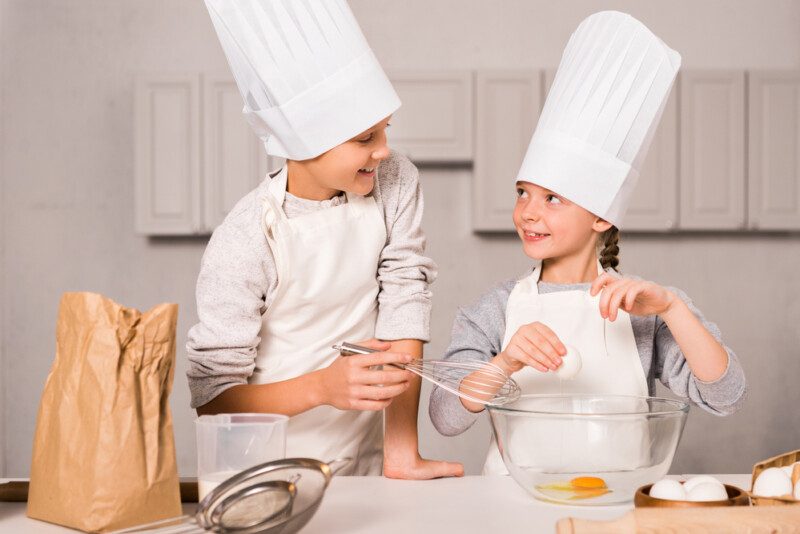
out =
<path fill-rule="evenodd" d="M 272 261 L 266 238 L 252 213 L 231 212 L 212 234 L 197 279 L 199 322 L 188 334 L 192 408 L 226 389 L 246 384 L 255 367 L 261 313 Z"/>

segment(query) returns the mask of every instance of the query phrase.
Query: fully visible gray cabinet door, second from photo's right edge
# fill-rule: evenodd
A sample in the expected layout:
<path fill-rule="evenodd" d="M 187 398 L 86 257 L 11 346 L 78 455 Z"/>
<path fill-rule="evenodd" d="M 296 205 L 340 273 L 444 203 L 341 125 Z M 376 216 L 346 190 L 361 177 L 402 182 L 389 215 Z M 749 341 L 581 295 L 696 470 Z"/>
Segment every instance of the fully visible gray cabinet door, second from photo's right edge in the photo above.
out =
<path fill-rule="evenodd" d="M 681 228 L 745 226 L 744 109 L 744 72 L 683 73 Z"/>

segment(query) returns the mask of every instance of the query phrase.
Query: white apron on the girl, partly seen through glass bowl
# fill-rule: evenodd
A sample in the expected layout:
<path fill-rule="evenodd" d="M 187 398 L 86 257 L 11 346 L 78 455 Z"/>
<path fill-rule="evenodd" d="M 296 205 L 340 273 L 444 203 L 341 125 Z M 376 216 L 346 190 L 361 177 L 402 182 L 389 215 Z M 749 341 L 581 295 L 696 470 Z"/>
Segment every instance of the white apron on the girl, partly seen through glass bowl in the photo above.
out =
<path fill-rule="evenodd" d="M 602 267 L 597 264 L 598 273 Z M 647 396 L 644 375 L 630 315 L 622 310 L 614 322 L 600 316 L 600 295 L 589 291 L 558 291 L 539 294 L 541 267 L 517 282 L 508 298 L 503 350 L 519 327 L 533 322 L 548 326 L 565 344 L 580 352 L 583 367 L 573 380 L 559 380 L 552 371 L 542 373 L 526 366 L 514 374 L 523 394 L 613 394 Z M 577 405 L 580 400 L 572 401 Z M 621 409 L 646 409 L 635 399 L 623 401 Z M 514 453 L 518 465 L 548 472 L 592 472 L 614 465 L 627 470 L 642 465 L 649 455 L 646 421 L 580 423 L 548 420 L 515 426 L 507 433 L 505 449 Z M 586 442 L 593 454 L 585 454 Z M 535 451 L 535 452 L 534 452 Z M 492 440 L 484 474 L 508 474 L 496 439 Z"/>

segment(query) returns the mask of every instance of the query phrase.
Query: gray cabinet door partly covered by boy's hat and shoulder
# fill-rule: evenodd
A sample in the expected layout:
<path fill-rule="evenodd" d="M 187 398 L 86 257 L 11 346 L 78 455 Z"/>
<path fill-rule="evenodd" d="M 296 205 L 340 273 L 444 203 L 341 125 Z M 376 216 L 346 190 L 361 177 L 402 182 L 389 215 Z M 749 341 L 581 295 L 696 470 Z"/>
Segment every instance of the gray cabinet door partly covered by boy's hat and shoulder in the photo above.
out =
<path fill-rule="evenodd" d="M 203 230 L 210 233 L 278 162 L 268 158 L 242 115 L 242 97 L 230 75 L 205 76 L 203 93 Z"/>

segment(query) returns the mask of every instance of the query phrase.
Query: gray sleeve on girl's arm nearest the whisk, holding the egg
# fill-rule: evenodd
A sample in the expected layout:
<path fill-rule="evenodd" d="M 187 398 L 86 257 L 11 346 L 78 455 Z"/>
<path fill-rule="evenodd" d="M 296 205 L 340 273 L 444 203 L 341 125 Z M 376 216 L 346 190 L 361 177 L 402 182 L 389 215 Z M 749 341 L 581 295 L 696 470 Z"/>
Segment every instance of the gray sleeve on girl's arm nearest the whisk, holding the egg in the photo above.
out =
<path fill-rule="evenodd" d="M 496 286 L 472 306 L 458 310 L 445 360 L 489 361 L 502 350 L 506 304 L 514 285 L 510 281 Z M 428 413 L 433 426 L 445 436 L 465 432 L 480 416 L 467 410 L 457 396 L 438 387 L 431 391 Z"/>

